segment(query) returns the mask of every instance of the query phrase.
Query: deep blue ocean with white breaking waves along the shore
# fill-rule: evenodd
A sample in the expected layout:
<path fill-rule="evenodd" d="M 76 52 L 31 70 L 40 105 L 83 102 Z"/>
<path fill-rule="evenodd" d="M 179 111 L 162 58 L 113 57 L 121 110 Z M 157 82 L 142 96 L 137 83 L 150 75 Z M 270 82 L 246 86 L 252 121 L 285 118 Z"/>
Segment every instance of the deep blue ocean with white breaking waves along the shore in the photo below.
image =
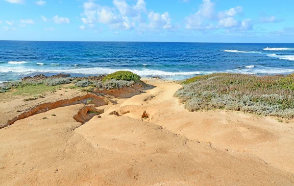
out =
<path fill-rule="evenodd" d="M 175 80 L 215 72 L 287 74 L 294 72 L 294 44 L 0 41 L 0 82 L 117 70 Z"/>

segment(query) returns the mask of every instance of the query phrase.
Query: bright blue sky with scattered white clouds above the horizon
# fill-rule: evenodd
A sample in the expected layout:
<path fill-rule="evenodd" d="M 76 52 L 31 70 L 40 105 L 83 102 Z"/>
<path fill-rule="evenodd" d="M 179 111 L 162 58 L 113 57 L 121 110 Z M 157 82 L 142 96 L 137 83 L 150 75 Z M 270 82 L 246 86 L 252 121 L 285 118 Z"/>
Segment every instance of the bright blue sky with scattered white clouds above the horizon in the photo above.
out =
<path fill-rule="evenodd" d="M 294 0 L 0 0 L 0 40 L 294 43 Z"/>

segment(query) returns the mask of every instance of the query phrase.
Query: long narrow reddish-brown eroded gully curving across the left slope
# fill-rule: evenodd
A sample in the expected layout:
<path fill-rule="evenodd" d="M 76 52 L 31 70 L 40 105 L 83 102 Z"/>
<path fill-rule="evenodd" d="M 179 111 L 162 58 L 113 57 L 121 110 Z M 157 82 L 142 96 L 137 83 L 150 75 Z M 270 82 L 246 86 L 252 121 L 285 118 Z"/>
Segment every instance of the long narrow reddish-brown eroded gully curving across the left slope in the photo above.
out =
<path fill-rule="evenodd" d="M 7 125 L 12 125 L 15 121 L 24 119 L 29 116 L 33 116 L 40 113 L 45 113 L 49 110 L 56 109 L 58 107 L 65 107 L 69 105 L 76 105 L 76 104 L 93 104 L 96 107 L 107 105 L 107 100 L 104 100 L 104 97 L 100 97 L 96 94 L 89 93 L 83 96 L 77 96 L 72 99 L 63 99 L 53 103 L 43 103 L 31 108 L 29 111 L 26 111 L 19 116 L 14 117 L 13 119 L 7 122 Z"/>

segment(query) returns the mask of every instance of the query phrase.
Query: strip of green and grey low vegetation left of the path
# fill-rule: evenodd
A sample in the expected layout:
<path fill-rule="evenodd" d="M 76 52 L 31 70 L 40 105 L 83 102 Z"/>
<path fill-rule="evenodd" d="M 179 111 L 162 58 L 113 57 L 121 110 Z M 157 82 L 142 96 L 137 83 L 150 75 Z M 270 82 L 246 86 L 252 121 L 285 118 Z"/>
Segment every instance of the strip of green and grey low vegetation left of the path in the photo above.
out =
<path fill-rule="evenodd" d="M 54 92 L 60 88 L 80 89 L 94 92 L 111 89 L 133 87 L 136 83 L 143 84 L 141 77 L 130 71 L 118 71 L 107 76 L 74 77 L 68 74 L 57 74 L 51 77 L 36 75 L 25 77 L 21 81 L 7 82 L 0 85 L 0 93 L 12 91 L 13 95 L 36 95 L 44 92 Z M 69 84 L 69 85 L 68 85 Z M 36 97 L 27 98 L 25 101 L 35 100 Z"/>

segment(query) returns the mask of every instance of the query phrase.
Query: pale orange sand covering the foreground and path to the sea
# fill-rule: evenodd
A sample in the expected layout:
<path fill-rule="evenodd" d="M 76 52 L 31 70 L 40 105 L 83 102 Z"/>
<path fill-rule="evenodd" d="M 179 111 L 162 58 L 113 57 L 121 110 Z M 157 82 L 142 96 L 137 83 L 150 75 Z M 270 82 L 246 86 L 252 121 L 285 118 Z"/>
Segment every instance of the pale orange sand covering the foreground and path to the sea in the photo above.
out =
<path fill-rule="evenodd" d="M 191 113 L 172 96 L 181 85 L 144 81 L 152 87 L 131 98 L 76 102 L 0 129 L 0 185 L 294 185 L 293 122 Z M 91 118 L 89 107 L 103 114 Z"/>

